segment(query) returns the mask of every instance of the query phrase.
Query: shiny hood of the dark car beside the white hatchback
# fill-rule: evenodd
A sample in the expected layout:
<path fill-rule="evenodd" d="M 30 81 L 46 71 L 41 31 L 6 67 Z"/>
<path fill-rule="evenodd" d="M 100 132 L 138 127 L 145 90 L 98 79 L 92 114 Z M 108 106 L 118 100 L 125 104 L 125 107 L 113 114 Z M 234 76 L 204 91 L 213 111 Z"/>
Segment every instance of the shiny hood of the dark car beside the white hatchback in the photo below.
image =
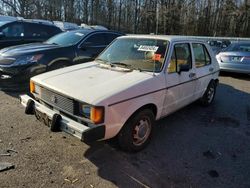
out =
<path fill-rule="evenodd" d="M 18 46 L 12 46 L 8 48 L 4 48 L 0 50 L 0 55 L 2 56 L 20 56 L 30 53 L 36 53 L 44 50 L 51 50 L 55 48 L 60 48 L 60 46 L 56 44 L 46 44 L 46 43 L 32 43 L 32 44 L 24 44 Z"/>

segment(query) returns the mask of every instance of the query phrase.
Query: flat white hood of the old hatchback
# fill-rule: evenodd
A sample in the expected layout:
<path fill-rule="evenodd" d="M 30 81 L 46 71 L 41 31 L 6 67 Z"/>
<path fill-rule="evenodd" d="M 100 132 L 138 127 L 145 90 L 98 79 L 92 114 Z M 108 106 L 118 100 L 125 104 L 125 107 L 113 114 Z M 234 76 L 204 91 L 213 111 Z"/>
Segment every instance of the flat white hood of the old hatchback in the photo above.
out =
<path fill-rule="evenodd" d="M 90 62 L 41 74 L 32 80 L 76 100 L 99 105 L 103 100 L 153 77 L 154 74 L 149 72 L 110 70 Z M 137 90 L 134 89 L 133 93 L 144 92 Z"/>

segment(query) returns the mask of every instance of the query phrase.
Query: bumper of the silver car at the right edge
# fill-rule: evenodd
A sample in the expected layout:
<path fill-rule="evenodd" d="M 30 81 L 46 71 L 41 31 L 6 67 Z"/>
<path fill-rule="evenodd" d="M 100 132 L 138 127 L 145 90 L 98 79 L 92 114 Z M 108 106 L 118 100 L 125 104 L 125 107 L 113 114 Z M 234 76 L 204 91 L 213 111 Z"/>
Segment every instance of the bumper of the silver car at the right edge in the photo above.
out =
<path fill-rule="evenodd" d="M 250 64 L 244 63 L 219 63 L 220 70 L 225 72 L 235 72 L 250 74 Z"/>

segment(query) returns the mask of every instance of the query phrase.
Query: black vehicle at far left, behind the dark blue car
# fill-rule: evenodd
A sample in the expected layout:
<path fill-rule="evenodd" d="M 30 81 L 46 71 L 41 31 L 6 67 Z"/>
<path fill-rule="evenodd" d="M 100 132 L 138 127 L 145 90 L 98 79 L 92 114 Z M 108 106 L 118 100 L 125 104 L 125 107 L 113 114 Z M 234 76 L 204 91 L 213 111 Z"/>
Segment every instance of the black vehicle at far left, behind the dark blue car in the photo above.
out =
<path fill-rule="evenodd" d="M 32 42 L 43 42 L 61 32 L 59 27 L 42 22 L 0 21 L 0 49 Z"/>

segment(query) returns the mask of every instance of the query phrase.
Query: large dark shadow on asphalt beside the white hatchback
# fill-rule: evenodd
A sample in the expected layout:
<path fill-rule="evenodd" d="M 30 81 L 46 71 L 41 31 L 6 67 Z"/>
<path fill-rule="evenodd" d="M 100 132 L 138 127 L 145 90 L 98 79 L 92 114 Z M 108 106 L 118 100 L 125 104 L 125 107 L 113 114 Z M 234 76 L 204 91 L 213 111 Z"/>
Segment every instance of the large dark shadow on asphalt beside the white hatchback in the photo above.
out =
<path fill-rule="evenodd" d="M 219 84 L 209 107 L 195 102 L 156 124 L 143 151 L 126 153 L 106 141 L 83 156 L 118 187 L 250 186 L 249 93 Z"/>

